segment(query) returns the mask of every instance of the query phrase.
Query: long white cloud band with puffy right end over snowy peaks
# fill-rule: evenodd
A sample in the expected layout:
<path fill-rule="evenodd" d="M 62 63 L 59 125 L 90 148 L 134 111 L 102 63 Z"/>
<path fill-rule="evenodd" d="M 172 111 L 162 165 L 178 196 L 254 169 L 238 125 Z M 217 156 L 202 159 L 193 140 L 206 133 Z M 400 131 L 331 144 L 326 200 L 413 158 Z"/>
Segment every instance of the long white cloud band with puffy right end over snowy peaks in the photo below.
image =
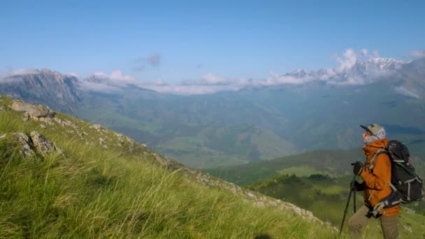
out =
<path fill-rule="evenodd" d="M 324 68 L 319 71 L 308 72 L 299 70 L 294 71 L 294 75 L 289 73 L 279 75 L 270 71 L 268 78 L 230 79 L 207 73 L 200 79 L 183 80 L 177 85 L 153 83 L 142 85 L 142 87 L 173 94 L 206 94 L 221 90 L 237 90 L 244 87 L 301 85 L 313 81 L 322 81 L 331 85 L 365 85 L 377 79 L 382 79 L 382 76 L 391 73 L 382 65 L 387 61 L 379 58 L 377 50 L 370 52 L 370 50 L 361 49 L 356 52 L 347 49 L 342 56 L 336 55 L 335 59 L 338 62 L 336 68 Z"/>

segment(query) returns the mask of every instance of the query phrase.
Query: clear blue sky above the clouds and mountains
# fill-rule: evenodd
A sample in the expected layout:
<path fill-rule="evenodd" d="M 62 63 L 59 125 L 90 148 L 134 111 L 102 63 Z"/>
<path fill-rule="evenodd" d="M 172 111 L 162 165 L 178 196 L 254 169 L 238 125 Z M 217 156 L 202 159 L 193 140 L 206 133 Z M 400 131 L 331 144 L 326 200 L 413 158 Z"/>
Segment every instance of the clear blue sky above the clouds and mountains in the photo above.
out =
<path fill-rule="evenodd" d="M 425 50 L 424 9 L 425 1 L 2 1 L 0 71 L 181 82 L 334 67 L 348 48 L 403 59 Z"/>

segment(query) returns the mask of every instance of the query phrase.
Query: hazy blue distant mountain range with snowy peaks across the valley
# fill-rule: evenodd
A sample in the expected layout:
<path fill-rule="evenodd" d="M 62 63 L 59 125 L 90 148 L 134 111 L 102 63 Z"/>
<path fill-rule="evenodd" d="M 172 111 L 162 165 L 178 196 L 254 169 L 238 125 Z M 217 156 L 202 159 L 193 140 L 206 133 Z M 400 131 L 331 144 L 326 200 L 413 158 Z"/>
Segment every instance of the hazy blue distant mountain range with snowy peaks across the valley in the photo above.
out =
<path fill-rule="evenodd" d="M 222 90 L 198 95 L 157 92 L 170 86 L 154 91 L 118 73 L 80 78 L 26 70 L 3 73 L 0 93 L 101 123 L 195 168 L 360 147 L 359 124 L 373 122 L 419 156 L 425 155 L 424 68 L 425 59 L 356 59 L 338 68 L 216 82 Z M 215 86 L 180 87 L 190 84 Z"/>

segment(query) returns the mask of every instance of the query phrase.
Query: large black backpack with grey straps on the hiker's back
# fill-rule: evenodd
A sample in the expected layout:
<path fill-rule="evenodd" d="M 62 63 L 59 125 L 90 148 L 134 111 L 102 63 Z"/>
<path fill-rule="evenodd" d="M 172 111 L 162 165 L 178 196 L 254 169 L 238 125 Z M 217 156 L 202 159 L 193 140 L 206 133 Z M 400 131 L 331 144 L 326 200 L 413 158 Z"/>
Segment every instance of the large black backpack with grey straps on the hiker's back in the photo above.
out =
<path fill-rule="evenodd" d="M 388 154 L 391 161 L 391 182 L 393 189 L 389 196 L 380 203 L 384 208 L 391 208 L 399 203 L 411 203 L 422 199 L 423 181 L 415 173 L 415 168 L 409 163 L 408 147 L 398 140 L 390 140 L 386 147 L 373 155 L 370 170 L 373 170 L 375 158 L 379 154 Z"/>

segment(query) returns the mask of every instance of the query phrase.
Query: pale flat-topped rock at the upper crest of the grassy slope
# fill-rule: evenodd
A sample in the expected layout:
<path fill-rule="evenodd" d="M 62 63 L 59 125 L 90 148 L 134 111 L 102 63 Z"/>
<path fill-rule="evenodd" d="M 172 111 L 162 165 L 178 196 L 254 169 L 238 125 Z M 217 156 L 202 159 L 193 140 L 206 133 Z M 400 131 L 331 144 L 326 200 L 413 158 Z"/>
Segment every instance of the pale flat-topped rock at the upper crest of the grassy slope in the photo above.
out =
<path fill-rule="evenodd" d="M 33 105 L 20 100 L 14 100 L 10 106 L 12 110 L 24 113 L 24 120 L 34 119 L 51 124 L 55 112 L 47 106 Z"/>

